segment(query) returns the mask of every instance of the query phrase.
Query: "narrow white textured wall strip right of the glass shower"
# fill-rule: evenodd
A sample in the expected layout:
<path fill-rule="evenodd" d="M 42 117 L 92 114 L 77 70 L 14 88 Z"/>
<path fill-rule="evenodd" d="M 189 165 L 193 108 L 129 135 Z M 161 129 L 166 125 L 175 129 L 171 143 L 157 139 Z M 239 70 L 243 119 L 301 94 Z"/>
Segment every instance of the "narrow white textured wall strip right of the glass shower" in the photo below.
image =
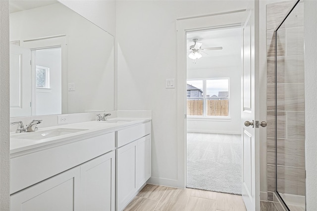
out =
<path fill-rule="evenodd" d="M 317 1 L 304 1 L 306 210 L 317 210 Z"/>

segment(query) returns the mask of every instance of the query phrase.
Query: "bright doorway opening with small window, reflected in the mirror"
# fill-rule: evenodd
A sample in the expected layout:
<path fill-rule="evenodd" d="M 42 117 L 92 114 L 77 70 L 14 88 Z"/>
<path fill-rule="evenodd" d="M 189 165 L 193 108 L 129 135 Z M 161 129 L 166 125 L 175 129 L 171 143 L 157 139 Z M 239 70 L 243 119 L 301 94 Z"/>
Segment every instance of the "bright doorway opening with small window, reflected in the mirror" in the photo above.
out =
<path fill-rule="evenodd" d="M 32 115 L 61 114 L 61 47 L 32 50 Z"/>

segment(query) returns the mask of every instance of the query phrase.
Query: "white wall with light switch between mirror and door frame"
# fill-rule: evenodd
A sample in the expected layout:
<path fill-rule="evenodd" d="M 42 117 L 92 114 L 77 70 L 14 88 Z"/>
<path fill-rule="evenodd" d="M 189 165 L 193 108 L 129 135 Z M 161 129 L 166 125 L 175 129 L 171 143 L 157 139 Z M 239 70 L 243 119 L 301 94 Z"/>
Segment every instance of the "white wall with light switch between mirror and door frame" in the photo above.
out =
<path fill-rule="evenodd" d="M 177 95 L 176 89 L 165 89 L 165 79 L 176 78 L 176 18 L 244 9 L 246 4 L 117 1 L 118 110 L 152 110 L 151 182 L 176 186 L 179 177 Z"/>

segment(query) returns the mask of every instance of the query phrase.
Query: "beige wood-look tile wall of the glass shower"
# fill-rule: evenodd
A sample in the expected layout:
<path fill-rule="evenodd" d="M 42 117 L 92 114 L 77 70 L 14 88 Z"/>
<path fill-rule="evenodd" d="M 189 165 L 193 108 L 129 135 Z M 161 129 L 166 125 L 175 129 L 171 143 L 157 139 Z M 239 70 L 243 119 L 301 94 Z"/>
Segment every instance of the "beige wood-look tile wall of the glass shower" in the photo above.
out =
<path fill-rule="evenodd" d="M 277 190 L 305 195 L 304 28 L 303 16 L 289 16 L 278 30 L 275 79 L 274 29 L 293 6 L 283 1 L 266 6 L 267 58 L 267 191 L 275 190 L 275 80 L 277 83 Z M 303 6 L 299 3 L 297 6 Z M 287 71 L 284 71 L 287 70 Z M 281 153 L 280 153 L 281 152 Z"/>

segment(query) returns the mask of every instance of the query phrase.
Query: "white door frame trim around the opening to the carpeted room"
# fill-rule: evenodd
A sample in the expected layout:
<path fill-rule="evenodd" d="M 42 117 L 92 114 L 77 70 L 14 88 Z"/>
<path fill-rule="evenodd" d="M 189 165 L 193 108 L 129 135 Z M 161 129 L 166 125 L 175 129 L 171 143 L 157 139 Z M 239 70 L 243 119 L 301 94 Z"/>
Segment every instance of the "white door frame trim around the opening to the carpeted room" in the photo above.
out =
<path fill-rule="evenodd" d="M 177 187 L 186 187 L 186 33 L 207 29 L 221 29 L 244 25 L 246 10 L 237 10 L 218 15 L 206 15 L 177 19 Z"/>

